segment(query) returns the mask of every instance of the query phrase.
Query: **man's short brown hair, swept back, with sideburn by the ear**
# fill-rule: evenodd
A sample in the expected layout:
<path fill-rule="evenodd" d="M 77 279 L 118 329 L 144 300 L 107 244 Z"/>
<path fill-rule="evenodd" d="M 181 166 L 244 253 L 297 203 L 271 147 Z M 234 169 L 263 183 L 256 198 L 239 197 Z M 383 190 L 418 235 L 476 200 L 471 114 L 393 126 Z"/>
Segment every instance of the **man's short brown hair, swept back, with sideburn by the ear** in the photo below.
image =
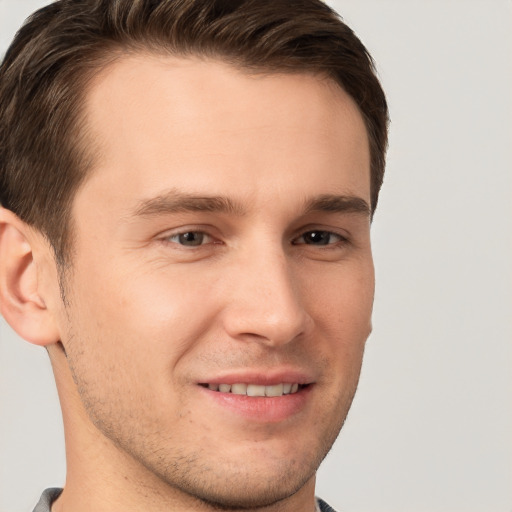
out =
<path fill-rule="evenodd" d="M 330 77 L 364 118 L 375 209 L 386 99 L 369 53 L 320 0 L 58 0 L 28 18 L 0 67 L 0 203 L 47 237 L 59 263 L 68 263 L 71 203 L 93 162 L 87 82 L 127 51 Z"/>

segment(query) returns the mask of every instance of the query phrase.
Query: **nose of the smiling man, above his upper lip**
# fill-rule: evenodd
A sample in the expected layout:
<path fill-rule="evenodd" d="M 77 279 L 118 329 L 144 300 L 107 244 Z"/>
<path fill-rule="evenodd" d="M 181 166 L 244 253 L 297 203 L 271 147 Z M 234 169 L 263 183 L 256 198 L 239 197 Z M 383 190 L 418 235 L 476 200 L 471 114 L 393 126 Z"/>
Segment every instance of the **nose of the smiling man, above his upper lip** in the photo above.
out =
<path fill-rule="evenodd" d="M 230 337 L 282 346 L 307 334 L 313 324 L 297 270 L 283 250 L 257 250 L 231 266 L 223 311 Z"/>

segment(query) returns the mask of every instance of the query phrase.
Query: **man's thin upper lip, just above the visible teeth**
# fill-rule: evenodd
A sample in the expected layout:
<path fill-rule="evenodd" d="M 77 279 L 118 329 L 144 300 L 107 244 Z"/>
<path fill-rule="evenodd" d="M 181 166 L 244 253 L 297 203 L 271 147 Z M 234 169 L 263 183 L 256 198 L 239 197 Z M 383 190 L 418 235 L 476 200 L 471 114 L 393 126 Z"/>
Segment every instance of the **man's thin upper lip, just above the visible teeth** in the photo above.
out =
<path fill-rule="evenodd" d="M 304 370 L 282 369 L 244 369 L 239 371 L 225 371 L 215 376 L 201 379 L 199 384 L 257 384 L 260 386 L 273 386 L 281 383 L 311 384 L 314 381 L 310 372 Z"/>

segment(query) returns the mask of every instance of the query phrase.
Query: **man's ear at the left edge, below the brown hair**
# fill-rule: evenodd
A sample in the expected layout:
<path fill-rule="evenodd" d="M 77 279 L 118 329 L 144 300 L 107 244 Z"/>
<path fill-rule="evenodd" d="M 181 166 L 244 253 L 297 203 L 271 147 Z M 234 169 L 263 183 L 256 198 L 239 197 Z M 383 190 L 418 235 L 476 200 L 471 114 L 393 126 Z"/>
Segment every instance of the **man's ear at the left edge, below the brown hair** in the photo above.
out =
<path fill-rule="evenodd" d="M 0 313 L 22 338 L 46 346 L 60 336 L 39 285 L 35 250 L 44 250 L 42 239 L 13 212 L 0 207 Z"/>

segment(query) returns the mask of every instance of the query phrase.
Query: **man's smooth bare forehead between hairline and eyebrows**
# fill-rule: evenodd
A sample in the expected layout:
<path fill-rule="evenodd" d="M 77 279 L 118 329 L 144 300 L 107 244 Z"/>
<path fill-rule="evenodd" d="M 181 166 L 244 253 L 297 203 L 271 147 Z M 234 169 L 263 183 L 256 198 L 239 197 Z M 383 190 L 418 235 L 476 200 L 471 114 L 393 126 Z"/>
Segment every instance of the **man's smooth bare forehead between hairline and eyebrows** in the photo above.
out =
<path fill-rule="evenodd" d="M 322 77 L 131 55 L 97 75 L 86 116 L 97 148 L 89 182 L 106 201 L 112 190 L 126 192 L 129 202 L 180 188 L 182 181 L 190 188 L 194 176 L 200 193 L 225 194 L 227 187 L 248 196 L 265 183 L 291 191 L 297 177 L 327 170 L 344 188 L 337 192 L 369 199 L 362 116 Z"/>

